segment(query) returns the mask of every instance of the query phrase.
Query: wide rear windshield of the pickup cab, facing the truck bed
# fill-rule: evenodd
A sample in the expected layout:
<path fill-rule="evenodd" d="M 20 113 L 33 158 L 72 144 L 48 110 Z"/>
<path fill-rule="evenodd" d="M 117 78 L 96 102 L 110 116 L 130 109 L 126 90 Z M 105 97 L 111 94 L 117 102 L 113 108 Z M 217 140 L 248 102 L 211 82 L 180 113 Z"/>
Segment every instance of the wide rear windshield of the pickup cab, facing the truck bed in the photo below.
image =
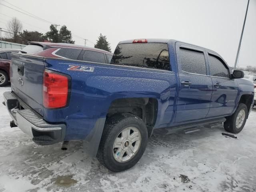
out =
<path fill-rule="evenodd" d="M 166 43 L 129 43 L 116 47 L 111 64 L 170 70 Z"/>

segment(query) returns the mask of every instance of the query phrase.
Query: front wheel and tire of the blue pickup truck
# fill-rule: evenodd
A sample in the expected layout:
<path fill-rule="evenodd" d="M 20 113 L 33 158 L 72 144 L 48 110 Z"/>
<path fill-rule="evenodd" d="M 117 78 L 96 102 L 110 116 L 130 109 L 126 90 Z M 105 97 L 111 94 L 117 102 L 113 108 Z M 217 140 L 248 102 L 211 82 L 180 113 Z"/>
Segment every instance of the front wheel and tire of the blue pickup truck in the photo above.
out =
<path fill-rule="evenodd" d="M 241 114 L 242 114 L 242 116 L 241 116 Z M 238 122 L 236 122 L 237 118 L 239 118 L 239 117 L 241 120 L 242 119 L 244 119 L 244 120 L 242 120 L 242 122 L 239 120 L 238 120 Z M 224 122 L 224 129 L 227 132 L 239 133 L 244 128 L 247 117 L 248 117 L 247 106 L 243 103 L 240 103 L 238 105 L 238 108 L 234 112 L 234 114 L 232 116 L 226 117 L 226 121 Z"/>

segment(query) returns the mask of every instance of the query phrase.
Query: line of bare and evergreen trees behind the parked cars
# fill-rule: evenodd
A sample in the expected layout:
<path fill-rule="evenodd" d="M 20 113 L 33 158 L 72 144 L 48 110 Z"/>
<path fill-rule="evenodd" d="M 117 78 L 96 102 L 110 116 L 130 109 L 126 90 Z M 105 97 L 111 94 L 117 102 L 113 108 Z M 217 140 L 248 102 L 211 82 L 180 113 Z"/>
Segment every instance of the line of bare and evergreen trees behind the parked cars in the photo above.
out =
<path fill-rule="evenodd" d="M 75 41 L 72 40 L 72 33 L 68 30 L 66 25 L 60 27 L 60 30 L 57 29 L 56 25 L 50 25 L 50 30 L 45 34 L 38 31 L 28 31 L 22 30 L 23 25 L 18 18 L 12 18 L 7 24 L 8 35 L 0 38 L 0 40 L 28 44 L 29 41 L 38 41 L 38 42 L 54 42 L 54 43 L 70 43 L 74 44 Z M 103 49 L 111 52 L 110 43 L 108 43 L 106 36 L 100 33 L 98 40 L 96 40 L 95 48 Z"/>

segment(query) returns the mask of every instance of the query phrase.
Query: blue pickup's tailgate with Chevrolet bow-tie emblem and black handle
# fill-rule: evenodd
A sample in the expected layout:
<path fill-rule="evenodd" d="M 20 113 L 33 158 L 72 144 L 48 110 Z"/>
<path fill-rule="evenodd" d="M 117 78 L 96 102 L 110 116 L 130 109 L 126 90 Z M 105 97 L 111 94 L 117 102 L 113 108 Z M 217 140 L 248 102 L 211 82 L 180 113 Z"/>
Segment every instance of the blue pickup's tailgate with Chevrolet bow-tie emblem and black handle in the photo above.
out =
<path fill-rule="evenodd" d="M 12 92 L 42 116 L 43 72 L 43 58 L 12 54 L 10 65 Z"/>

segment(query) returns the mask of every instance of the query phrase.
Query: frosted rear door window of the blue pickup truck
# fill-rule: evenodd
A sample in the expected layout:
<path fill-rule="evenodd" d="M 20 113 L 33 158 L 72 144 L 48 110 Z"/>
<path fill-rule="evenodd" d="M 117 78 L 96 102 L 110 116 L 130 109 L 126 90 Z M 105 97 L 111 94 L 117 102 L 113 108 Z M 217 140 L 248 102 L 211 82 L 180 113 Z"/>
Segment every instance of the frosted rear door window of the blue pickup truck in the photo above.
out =
<path fill-rule="evenodd" d="M 206 64 L 203 52 L 180 48 L 180 60 L 183 71 L 206 75 Z"/>

